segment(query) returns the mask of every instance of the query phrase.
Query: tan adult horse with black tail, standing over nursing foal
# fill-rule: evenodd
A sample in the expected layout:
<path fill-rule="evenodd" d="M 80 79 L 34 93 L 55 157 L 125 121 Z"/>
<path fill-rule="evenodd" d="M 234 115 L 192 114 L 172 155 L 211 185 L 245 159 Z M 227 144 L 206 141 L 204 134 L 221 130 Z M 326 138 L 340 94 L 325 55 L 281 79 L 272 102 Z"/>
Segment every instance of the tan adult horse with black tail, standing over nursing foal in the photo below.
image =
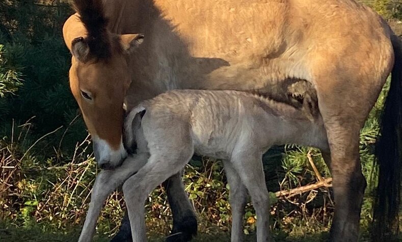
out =
<path fill-rule="evenodd" d="M 372 10 L 354 0 L 74 3 L 77 14 L 63 29 L 72 53 L 70 86 L 100 167 L 125 157 L 123 102 L 130 109 L 169 89 L 257 90 L 286 100 L 283 87 L 303 79 L 317 93 L 331 150 L 323 156 L 333 176 L 333 241 L 358 239 L 366 186 L 359 131 L 392 70 L 374 216 L 378 236 L 398 231 L 402 47 Z M 144 34 L 141 46 L 143 37 L 133 33 Z M 196 220 L 180 176 L 166 186 L 173 232 L 188 239 Z"/>

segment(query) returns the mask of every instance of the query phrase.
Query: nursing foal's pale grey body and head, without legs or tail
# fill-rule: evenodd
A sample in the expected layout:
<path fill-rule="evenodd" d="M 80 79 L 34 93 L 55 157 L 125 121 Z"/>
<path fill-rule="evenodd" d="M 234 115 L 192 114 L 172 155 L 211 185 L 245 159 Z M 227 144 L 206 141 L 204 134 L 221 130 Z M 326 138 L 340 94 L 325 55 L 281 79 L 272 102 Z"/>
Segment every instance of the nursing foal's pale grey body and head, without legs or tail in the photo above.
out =
<path fill-rule="evenodd" d="M 195 152 L 211 157 L 228 159 L 239 143 L 261 151 L 286 143 L 327 148 L 320 116 L 246 92 L 173 90 L 142 105 L 153 131 L 188 130 Z"/>

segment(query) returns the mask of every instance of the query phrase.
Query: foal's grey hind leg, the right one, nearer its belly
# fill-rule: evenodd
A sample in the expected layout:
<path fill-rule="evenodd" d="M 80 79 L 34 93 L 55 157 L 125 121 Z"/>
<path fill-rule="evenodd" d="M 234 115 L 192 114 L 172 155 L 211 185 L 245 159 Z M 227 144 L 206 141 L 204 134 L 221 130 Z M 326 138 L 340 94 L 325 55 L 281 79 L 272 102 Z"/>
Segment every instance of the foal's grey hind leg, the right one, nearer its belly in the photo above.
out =
<path fill-rule="evenodd" d="M 189 142 L 190 143 L 190 142 Z M 168 177 L 178 173 L 193 155 L 193 149 L 181 147 L 179 154 L 160 149 L 152 152 L 147 164 L 131 176 L 123 185 L 124 200 L 130 219 L 132 241 L 147 240 L 145 228 L 144 203 L 149 193 Z"/>

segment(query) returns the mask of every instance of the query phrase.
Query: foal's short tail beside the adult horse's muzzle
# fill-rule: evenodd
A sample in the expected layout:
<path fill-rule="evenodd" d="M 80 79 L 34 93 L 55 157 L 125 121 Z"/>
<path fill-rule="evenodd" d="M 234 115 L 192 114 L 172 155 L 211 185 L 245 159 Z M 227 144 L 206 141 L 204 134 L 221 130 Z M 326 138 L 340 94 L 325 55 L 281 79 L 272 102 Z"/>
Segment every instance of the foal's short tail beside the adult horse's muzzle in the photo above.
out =
<path fill-rule="evenodd" d="M 145 114 L 144 106 L 134 107 L 124 121 L 124 145 L 129 153 L 134 153 L 137 149 L 136 133 L 140 129 L 141 119 Z"/>

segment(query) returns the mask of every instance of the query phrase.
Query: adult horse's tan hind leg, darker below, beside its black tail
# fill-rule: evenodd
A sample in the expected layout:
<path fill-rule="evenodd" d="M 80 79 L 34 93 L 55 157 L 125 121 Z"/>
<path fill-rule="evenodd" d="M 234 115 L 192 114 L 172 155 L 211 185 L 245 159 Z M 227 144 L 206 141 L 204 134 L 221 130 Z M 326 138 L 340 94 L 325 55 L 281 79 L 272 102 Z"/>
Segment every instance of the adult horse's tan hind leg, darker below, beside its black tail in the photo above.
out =
<path fill-rule="evenodd" d="M 326 154 L 324 158 L 330 163 L 333 177 L 332 241 L 357 241 L 359 237 L 366 187 L 359 158 L 359 133 L 386 78 L 386 74 L 362 73 L 324 71 L 314 78 L 331 152 L 330 159 Z"/>

